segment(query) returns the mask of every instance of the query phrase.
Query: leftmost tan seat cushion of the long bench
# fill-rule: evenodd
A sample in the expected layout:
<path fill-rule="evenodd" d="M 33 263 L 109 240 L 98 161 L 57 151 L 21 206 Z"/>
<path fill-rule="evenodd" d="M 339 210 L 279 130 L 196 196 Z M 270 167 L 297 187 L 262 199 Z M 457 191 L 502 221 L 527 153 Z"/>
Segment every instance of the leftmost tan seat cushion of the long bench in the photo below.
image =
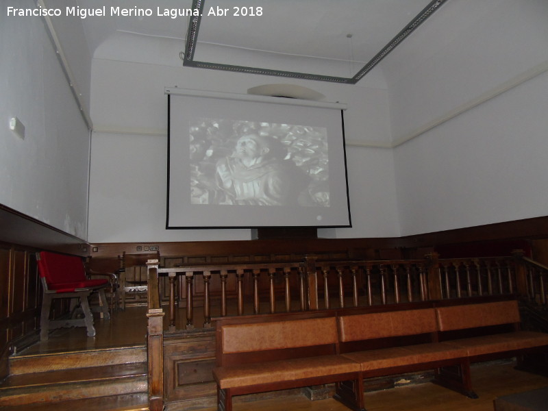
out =
<path fill-rule="evenodd" d="M 220 366 L 213 370 L 213 375 L 219 388 L 225 389 L 358 371 L 360 364 L 333 355 Z"/>

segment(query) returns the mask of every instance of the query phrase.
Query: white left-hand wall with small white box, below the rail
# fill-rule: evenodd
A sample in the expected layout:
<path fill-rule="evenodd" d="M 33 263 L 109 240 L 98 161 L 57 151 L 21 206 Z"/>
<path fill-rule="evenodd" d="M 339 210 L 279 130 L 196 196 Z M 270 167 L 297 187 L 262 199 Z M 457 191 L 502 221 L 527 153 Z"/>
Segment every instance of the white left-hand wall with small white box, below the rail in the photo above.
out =
<path fill-rule="evenodd" d="M 0 203 L 86 239 L 89 132 L 42 19 L 7 16 L 8 5 L 36 6 L 0 10 Z"/>

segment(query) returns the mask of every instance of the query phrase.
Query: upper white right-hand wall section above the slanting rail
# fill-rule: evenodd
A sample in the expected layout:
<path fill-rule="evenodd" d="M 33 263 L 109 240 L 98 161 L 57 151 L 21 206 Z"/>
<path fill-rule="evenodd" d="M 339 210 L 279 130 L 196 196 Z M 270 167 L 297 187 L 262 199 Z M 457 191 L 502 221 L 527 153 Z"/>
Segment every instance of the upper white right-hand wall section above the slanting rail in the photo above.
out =
<path fill-rule="evenodd" d="M 393 141 L 548 64 L 548 1 L 448 1 L 383 64 Z"/>

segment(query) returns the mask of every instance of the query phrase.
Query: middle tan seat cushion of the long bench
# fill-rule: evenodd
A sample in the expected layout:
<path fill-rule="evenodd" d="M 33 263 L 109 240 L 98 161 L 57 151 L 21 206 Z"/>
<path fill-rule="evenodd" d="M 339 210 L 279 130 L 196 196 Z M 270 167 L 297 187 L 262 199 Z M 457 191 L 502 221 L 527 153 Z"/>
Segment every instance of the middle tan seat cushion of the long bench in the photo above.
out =
<path fill-rule="evenodd" d="M 362 371 L 373 371 L 393 366 L 462 358 L 466 356 L 466 349 L 446 343 L 429 343 L 357 351 L 354 353 L 345 353 L 343 356 L 359 362 L 362 366 Z"/>

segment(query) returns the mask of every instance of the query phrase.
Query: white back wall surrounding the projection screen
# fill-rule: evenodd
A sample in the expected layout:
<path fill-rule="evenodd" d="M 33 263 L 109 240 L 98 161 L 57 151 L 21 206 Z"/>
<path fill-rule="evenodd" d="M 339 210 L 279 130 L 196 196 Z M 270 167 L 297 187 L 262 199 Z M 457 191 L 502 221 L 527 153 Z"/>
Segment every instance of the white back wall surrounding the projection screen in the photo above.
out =
<path fill-rule="evenodd" d="M 164 46 L 165 48 L 165 46 Z M 90 242 L 242 240 L 249 229 L 166 230 L 166 125 L 164 87 L 245 94 L 260 84 L 292 80 L 188 69 L 169 64 L 97 58 L 92 66 Z M 178 59 L 178 52 L 173 53 Z M 104 53 L 103 53 L 104 56 Z M 132 60 L 124 55 L 123 60 Z M 348 104 L 347 141 L 388 144 L 388 96 L 382 88 L 300 83 Z M 320 236 L 399 235 L 393 153 L 347 147 L 351 229 L 323 229 Z"/>

